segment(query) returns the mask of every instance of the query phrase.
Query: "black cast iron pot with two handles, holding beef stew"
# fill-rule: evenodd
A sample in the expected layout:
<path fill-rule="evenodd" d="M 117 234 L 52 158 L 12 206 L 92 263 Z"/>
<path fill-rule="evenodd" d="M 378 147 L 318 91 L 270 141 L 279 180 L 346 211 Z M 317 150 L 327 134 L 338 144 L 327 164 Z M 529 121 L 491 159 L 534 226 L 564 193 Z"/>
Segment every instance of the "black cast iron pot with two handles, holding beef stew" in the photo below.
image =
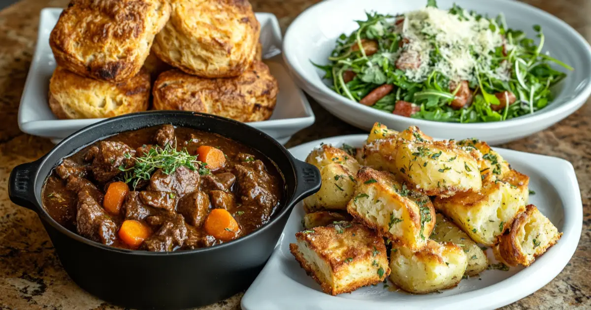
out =
<path fill-rule="evenodd" d="M 41 203 L 41 187 L 62 158 L 115 133 L 171 123 L 219 133 L 257 149 L 284 176 L 284 204 L 268 224 L 213 247 L 168 253 L 116 249 L 60 226 Z M 9 179 L 12 202 L 41 218 L 66 272 L 81 288 L 131 308 L 183 309 L 212 304 L 242 291 L 267 262 L 291 209 L 320 188 L 313 165 L 294 159 L 270 136 L 234 120 L 190 112 L 142 112 L 103 120 L 79 130 L 37 161 L 18 165 Z"/>

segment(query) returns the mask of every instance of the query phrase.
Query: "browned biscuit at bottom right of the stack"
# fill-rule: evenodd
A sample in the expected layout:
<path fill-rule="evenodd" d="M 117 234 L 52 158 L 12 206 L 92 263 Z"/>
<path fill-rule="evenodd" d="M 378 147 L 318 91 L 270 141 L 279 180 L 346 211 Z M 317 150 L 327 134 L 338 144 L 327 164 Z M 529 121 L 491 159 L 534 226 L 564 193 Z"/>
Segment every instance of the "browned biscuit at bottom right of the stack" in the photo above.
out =
<path fill-rule="evenodd" d="M 166 71 L 158 76 L 152 90 L 155 110 L 203 112 L 241 122 L 270 118 L 277 92 L 277 80 L 261 61 L 255 61 L 241 76 L 229 79 L 204 79 L 180 70 Z"/>

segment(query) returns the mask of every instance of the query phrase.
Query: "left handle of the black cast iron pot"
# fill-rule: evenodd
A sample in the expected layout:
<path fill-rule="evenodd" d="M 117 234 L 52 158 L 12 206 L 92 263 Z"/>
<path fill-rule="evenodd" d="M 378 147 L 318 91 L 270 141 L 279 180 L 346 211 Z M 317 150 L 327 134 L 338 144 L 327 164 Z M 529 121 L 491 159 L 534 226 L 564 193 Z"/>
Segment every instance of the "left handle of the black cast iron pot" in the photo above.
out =
<path fill-rule="evenodd" d="M 14 167 L 8 179 L 8 197 L 21 207 L 38 212 L 35 203 L 34 173 L 37 171 L 37 161 Z"/>

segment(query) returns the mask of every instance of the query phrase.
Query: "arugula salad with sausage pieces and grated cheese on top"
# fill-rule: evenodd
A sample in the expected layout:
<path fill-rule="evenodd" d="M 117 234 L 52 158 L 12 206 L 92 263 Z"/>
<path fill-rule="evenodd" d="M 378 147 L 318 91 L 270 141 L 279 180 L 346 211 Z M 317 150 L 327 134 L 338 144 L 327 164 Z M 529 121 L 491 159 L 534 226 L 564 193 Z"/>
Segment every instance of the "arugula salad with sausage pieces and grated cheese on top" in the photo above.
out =
<path fill-rule="evenodd" d="M 543 109 L 551 87 L 566 77 L 539 44 L 508 28 L 504 15 L 488 18 L 457 5 L 402 15 L 366 13 L 342 34 L 324 71 L 335 92 L 388 113 L 440 122 L 496 122 Z"/>

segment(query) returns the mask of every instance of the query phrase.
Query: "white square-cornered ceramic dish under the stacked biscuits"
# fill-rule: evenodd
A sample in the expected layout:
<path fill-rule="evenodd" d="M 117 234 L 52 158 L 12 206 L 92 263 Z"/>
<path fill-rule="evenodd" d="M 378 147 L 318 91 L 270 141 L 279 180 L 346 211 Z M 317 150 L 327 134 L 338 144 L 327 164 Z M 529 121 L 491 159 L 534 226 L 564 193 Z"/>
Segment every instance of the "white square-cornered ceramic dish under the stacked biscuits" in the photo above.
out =
<path fill-rule="evenodd" d="M 49 46 L 49 35 L 60 17 L 61 8 L 41 10 L 37 47 L 18 110 L 18 126 L 31 135 L 66 138 L 70 133 L 102 119 L 60 120 L 53 115 L 47 103 L 49 79 L 56 62 Z M 279 83 L 277 106 L 271 119 L 249 125 L 268 133 L 281 143 L 287 142 L 298 130 L 314 123 L 314 113 L 304 93 L 296 86 L 284 66 L 281 53 L 281 30 L 277 18 L 269 13 L 256 13 L 261 22 L 263 58 Z"/>

